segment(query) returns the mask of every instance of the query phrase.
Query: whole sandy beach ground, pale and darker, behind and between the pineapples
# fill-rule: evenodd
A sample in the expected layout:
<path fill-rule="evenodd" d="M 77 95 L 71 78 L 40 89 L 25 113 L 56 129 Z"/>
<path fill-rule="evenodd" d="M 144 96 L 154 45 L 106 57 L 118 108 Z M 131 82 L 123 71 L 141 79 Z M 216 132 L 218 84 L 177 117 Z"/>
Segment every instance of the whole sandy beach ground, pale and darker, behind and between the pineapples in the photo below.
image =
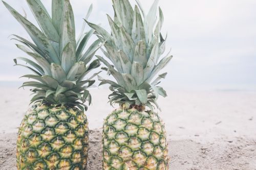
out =
<path fill-rule="evenodd" d="M 101 169 L 100 136 L 109 106 L 108 90 L 92 89 L 87 169 Z M 256 169 L 256 92 L 175 91 L 159 99 L 172 158 L 170 169 Z M 0 169 L 15 168 L 17 127 L 28 109 L 26 90 L 0 92 Z M 99 107 L 100 106 L 100 107 Z"/>

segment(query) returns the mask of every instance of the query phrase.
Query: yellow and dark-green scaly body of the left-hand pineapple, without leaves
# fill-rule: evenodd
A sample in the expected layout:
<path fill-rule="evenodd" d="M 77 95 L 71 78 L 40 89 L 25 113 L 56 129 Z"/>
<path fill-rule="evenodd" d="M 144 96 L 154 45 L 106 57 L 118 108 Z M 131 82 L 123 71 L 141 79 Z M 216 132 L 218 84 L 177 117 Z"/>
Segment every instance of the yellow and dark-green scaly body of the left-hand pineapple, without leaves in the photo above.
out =
<path fill-rule="evenodd" d="M 33 105 L 18 130 L 17 169 L 85 169 L 88 132 L 86 115 L 75 107 Z"/>

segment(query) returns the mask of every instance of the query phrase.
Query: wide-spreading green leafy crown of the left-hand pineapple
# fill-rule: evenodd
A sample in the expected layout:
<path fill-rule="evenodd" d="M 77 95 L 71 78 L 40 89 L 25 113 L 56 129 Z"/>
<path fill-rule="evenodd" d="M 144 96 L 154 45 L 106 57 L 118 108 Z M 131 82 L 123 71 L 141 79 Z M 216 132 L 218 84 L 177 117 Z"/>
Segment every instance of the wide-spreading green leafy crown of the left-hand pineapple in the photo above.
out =
<path fill-rule="evenodd" d="M 77 106 L 80 110 L 87 110 L 84 103 L 89 101 L 90 105 L 92 98 L 87 88 L 94 84 L 93 78 L 98 73 L 88 79 L 85 77 L 92 69 L 100 66 L 98 59 L 91 62 L 101 46 L 100 40 L 94 41 L 86 52 L 83 51 L 95 31 L 91 29 L 84 33 L 84 22 L 81 34 L 76 40 L 74 14 L 69 0 L 52 0 L 51 17 L 40 0 L 26 1 L 40 29 L 3 2 L 33 41 L 13 35 L 13 39 L 20 42 L 16 46 L 32 58 L 14 59 L 15 65 L 24 66 L 34 72 L 33 75 L 23 76 L 34 81 L 25 82 L 21 87 L 33 87 L 31 103 Z M 91 11 L 92 5 L 86 19 Z M 17 60 L 26 64 L 20 64 Z"/>

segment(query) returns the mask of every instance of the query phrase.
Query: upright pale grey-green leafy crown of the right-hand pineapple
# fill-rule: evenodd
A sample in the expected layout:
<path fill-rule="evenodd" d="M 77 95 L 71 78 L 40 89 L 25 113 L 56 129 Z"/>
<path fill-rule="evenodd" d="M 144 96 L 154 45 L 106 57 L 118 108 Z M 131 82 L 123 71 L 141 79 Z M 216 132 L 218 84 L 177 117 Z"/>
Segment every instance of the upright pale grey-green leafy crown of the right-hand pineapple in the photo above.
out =
<path fill-rule="evenodd" d="M 155 80 L 153 78 L 172 58 L 168 53 L 160 60 L 165 51 L 166 39 L 160 33 L 163 13 L 159 7 L 157 16 L 159 0 L 154 2 L 147 15 L 139 0 L 136 2 L 133 10 L 129 0 L 113 0 L 114 20 L 108 15 L 111 34 L 87 21 L 96 30 L 98 38 L 105 41 L 106 51 L 103 48 L 101 50 L 113 65 L 100 56 L 97 58 L 106 65 L 102 69 L 108 71 L 117 83 L 100 76 L 98 79 L 101 81 L 100 85 L 110 84 L 111 105 L 118 103 L 125 108 L 139 105 L 147 106 L 151 110 L 156 106 L 160 110 L 156 101 L 159 95 L 165 97 L 166 92 L 158 84 L 167 73 L 159 75 Z"/>

